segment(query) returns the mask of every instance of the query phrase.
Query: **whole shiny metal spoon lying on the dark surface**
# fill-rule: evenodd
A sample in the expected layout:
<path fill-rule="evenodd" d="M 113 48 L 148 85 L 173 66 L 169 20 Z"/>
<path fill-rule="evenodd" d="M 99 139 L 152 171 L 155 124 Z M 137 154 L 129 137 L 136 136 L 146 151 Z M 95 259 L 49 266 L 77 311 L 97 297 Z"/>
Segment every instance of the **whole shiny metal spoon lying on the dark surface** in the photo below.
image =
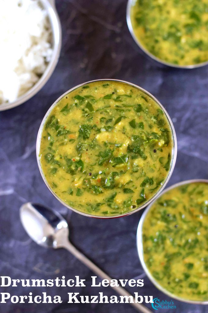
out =
<path fill-rule="evenodd" d="M 45 248 L 67 249 L 102 279 L 111 280 L 107 274 L 99 269 L 99 267 L 97 267 L 69 242 L 69 229 L 67 221 L 58 212 L 45 208 L 42 205 L 28 202 L 23 204 L 20 208 L 20 219 L 25 231 L 37 244 Z M 120 286 L 111 288 L 116 290 L 119 295 L 128 297 L 131 296 L 128 291 Z M 140 303 L 129 304 L 142 313 L 152 313 Z"/>

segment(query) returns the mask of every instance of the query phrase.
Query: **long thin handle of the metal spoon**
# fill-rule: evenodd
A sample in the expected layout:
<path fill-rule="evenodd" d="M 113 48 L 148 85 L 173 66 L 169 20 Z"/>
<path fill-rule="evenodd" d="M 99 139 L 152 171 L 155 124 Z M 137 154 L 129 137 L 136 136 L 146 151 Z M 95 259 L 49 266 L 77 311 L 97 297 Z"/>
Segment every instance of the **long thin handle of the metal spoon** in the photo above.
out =
<path fill-rule="evenodd" d="M 99 269 L 98 266 L 96 266 L 92 261 L 90 261 L 84 254 L 82 254 L 79 250 L 77 250 L 73 244 L 71 244 L 69 241 L 64 243 L 62 248 L 67 249 L 71 254 L 73 254 L 77 259 L 79 259 L 82 263 L 84 263 L 89 269 L 91 269 L 95 274 L 99 275 L 103 279 L 111 280 L 111 278 L 105 274 L 101 269 Z M 111 286 L 119 295 L 124 296 L 132 296 L 128 291 L 126 291 L 124 288 L 118 286 Z M 130 305 L 134 306 L 138 311 L 142 313 L 152 313 L 148 308 L 146 308 L 144 305 L 140 303 L 135 303 L 135 298 L 133 297 L 134 303 L 129 303 Z"/>

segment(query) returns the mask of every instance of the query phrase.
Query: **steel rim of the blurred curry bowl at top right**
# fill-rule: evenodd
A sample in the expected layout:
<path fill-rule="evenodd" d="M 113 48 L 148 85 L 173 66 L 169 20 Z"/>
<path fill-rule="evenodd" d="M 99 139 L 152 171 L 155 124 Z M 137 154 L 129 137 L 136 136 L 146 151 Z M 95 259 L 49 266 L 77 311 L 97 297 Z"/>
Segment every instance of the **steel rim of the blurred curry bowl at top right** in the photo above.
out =
<path fill-rule="evenodd" d="M 178 69 L 195 69 L 195 68 L 198 68 L 198 67 L 201 67 L 201 66 L 205 66 L 205 65 L 208 65 L 208 60 L 205 61 L 205 62 L 202 62 L 202 63 L 198 63 L 198 64 L 190 64 L 190 65 L 177 65 L 177 64 L 173 64 L 173 63 L 169 63 L 169 62 L 165 62 L 163 61 L 162 59 L 159 59 L 157 58 L 154 54 L 150 53 L 150 51 L 148 51 L 139 41 L 139 39 L 135 36 L 134 34 L 134 29 L 132 27 L 132 23 L 131 23 L 131 7 L 132 5 L 135 3 L 136 0 L 128 0 L 128 3 L 127 3 L 127 8 L 126 8 L 126 21 L 127 21 L 127 25 L 128 25 L 128 28 L 129 28 L 129 31 L 135 41 L 135 43 L 140 47 L 140 49 L 142 51 L 145 52 L 145 54 L 147 54 L 151 59 L 159 62 L 160 64 L 163 64 L 163 65 L 167 65 L 167 66 L 170 66 L 170 67 L 175 67 L 175 68 L 178 68 Z"/>

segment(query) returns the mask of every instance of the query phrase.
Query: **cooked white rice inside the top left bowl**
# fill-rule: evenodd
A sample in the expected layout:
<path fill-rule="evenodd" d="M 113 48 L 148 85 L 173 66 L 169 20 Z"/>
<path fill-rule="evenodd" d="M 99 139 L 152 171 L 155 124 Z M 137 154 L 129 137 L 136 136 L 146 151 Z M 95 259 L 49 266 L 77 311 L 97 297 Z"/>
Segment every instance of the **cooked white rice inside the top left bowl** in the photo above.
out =
<path fill-rule="evenodd" d="M 13 102 L 51 59 L 51 26 L 38 0 L 0 0 L 0 104 Z"/>

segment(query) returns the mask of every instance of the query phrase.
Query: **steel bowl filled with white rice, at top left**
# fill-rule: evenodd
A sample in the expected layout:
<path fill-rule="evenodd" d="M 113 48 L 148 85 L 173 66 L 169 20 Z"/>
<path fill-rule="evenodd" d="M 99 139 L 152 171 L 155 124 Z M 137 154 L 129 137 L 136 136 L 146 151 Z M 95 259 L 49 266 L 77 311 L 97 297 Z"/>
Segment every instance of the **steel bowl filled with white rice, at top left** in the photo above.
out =
<path fill-rule="evenodd" d="M 33 97 L 58 62 L 61 25 L 53 0 L 0 1 L 0 111 Z"/>

